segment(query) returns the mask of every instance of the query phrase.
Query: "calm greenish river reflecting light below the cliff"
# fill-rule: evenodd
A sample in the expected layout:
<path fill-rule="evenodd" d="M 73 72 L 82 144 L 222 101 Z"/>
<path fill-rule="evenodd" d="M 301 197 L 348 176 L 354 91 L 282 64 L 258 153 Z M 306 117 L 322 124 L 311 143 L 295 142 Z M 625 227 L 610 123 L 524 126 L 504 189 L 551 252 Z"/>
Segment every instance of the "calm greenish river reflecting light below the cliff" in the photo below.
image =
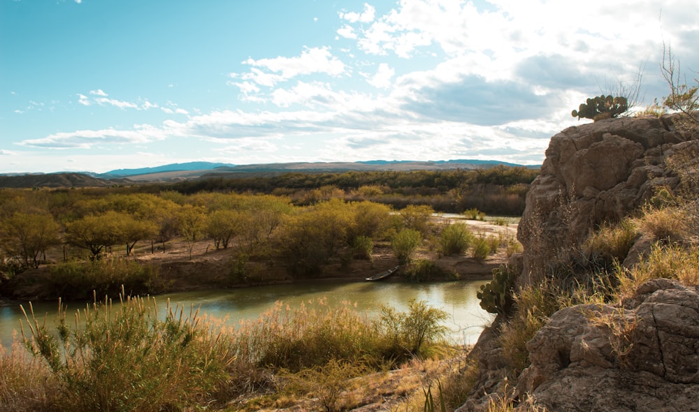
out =
<path fill-rule="evenodd" d="M 227 318 L 230 325 L 248 318 L 257 318 L 277 301 L 298 307 L 301 302 L 326 297 L 329 304 L 356 303 L 357 309 L 375 314 L 381 304 L 399 311 L 408 309 L 411 299 L 425 300 L 431 307 L 449 314 L 444 325 L 449 328 L 449 337 L 455 344 L 474 344 L 493 315 L 480 308 L 476 292 L 486 281 L 455 281 L 412 284 L 405 282 L 354 282 L 354 283 L 300 283 L 290 285 L 258 286 L 233 290 L 198 290 L 196 292 L 171 293 L 156 297 L 159 308 L 166 300 L 189 308 L 201 307 L 201 313 L 215 318 Z M 68 304 L 69 313 L 82 309 L 85 304 Z M 25 305 L 25 309 L 29 311 Z M 164 310 L 164 309 L 160 309 Z M 52 321 L 57 311 L 57 302 L 34 304 L 36 318 L 47 316 Z M 10 346 L 13 330 L 19 330 L 24 315 L 18 305 L 0 307 L 0 341 Z"/>

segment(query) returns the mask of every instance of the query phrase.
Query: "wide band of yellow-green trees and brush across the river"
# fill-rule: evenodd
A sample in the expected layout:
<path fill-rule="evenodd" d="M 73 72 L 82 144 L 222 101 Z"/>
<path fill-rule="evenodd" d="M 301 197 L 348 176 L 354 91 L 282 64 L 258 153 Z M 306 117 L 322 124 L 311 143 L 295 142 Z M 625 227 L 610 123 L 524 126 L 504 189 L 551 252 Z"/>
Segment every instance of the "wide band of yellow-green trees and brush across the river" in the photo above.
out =
<path fill-rule="evenodd" d="M 0 289 L 12 295 L 8 288 L 22 284 L 24 272 L 50 264 L 44 292 L 51 298 L 89 300 L 93 290 L 116 297 L 122 286 L 130 295 L 162 293 L 168 281 L 159 276 L 158 267 L 139 267 L 131 260 L 140 262 L 134 255 L 166 253 L 175 242 L 185 245 L 190 259 L 203 241 L 212 251 L 234 250 L 224 286 L 259 283 L 262 272 L 280 265 L 292 279 L 320 277 L 331 263 L 347 267 L 352 260 L 372 260 L 377 245 L 393 251 L 403 265 L 418 247 L 438 251 L 440 256 L 473 251 L 477 260 L 484 260 L 500 245 L 517 247 L 514 234 L 488 237 L 435 224 L 433 214 L 445 209 L 432 204 L 440 205 L 446 198 L 435 203 L 435 196 L 442 195 L 423 185 L 438 185 L 437 192 L 451 193 L 444 195 L 449 198 L 447 209 L 461 209 L 463 217 L 483 220 L 493 209 L 463 209 L 465 199 L 501 207 L 512 200 L 512 211 L 521 212 L 526 187 L 533 179 L 529 169 L 387 173 L 308 177 L 311 183 L 337 182 L 347 189 L 306 189 L 296 182 L 296 174 L 266 184 L 253 179 L 260 185 L 259 192 L 276 194 L 231 192 L 223 181 L 213 188 L 220 191 L 205 191 L 212 189 L 209 184 L 196 193 L 188 193 L 190 186 L 180 187 L 181 191 L 173 189 L 179 186 L 166 186 L 150 193 L 159 185 L 0 189 Z M 464 182 L 457 184 L 461 178 Z M 384 185 L 390 179 L 398 182 L 395 188 Z M 347 182 L 354 182 L 356 188 Z M 397 202 L 398 198 L 403 200 Z M 495 223 L 506 226 L 506 219 Z M 452 276 L 427 269 L 412 267 L 408 273 L 414 280 Z"/>

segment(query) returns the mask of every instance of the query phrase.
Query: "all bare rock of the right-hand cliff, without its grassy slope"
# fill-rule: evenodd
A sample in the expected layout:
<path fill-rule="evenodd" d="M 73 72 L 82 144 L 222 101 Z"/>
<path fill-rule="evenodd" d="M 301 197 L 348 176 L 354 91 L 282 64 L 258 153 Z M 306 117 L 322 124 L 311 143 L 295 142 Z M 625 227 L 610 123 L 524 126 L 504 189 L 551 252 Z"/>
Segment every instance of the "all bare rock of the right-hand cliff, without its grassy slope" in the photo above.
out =
<path fill-rule="evenodd" d="M 558 276 L 553 264 L 572 260 L 593 230 L 638 212 L 658 186 L 679 184 L 665 159 L 698 140 L 676 124 L 607 119 L 554 135 L 519 224 L 519 288 Z M 487 411 L 503 396 L 517 411 L 699 411 L 696 286 L 655 279 L 624 302 L 556 311 L 526 343 L 520 374 L 503 360 L 508 322 L 498 316 L 480 337 L 477 383 L 457 411 Z"/>

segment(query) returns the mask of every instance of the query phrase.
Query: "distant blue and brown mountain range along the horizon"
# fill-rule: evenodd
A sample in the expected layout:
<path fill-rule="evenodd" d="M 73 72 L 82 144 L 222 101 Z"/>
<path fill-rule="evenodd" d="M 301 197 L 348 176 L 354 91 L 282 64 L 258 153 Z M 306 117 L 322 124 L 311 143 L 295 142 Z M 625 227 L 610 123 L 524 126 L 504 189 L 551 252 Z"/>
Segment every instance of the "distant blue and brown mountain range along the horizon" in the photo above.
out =
<path fill-rule="evenodd" d="M 106 173 L 57 172 L 57 173 L 13 173 L 0 175 L 0 187 L 100 187 L 115 184 L 136 184 L 145 182 L 178 182 L 187 179 L 208 177 L 252 177 L 273 176 L 287 172 L 348 172 L 371 170 L 454 170 L 491 168 L 497 165 L 523 166 L 516 163 L 482 160 L 449 161 L 359 161 L 334 163 L 268 163 L 254 165 L 233 165 L 230 163 L 189 162 L 172 163 L 153 168 L 117 169 Z M 525 165 L 539 168 L 539 165 Z"/>

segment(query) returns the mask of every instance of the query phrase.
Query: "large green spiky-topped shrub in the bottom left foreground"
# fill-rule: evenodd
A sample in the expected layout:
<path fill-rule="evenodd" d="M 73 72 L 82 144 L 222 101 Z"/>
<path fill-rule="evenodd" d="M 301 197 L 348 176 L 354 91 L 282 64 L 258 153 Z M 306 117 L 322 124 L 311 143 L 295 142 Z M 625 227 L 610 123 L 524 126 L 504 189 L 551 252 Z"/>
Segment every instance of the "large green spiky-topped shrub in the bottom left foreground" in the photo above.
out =
<path fill-rule="evenodd" d="M 157 319 L 154 301 L 108 300 L 79 311 L 75 326 L 61 308 L 58 337 L 27 316 L 24 345 L 50 367 L 59 411 L 162 411 L 213 399 L 235 358 L 221 325 L 182 308 Z M 219 332 L 215 332 L 218 330 Z"/>

